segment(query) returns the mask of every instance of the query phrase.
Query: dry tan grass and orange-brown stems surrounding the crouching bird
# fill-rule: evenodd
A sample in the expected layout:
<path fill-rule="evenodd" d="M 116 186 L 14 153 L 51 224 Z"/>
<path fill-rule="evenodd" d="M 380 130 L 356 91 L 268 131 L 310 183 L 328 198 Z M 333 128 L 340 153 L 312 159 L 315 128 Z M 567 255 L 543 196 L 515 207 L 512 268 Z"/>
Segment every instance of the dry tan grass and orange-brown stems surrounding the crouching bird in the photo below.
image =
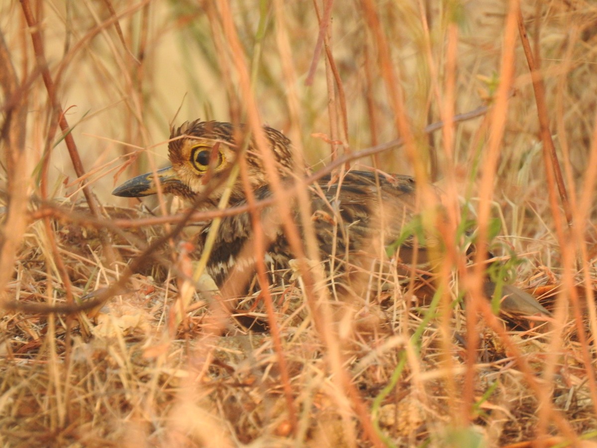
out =
<path fill-rule="evenodd" d="M 501 0 L 4 0 L 0 444 L 597 440 L 597 6 L 522 2 L 543 105 L 516 8 Z M 424 131 L 483 105 L 488 112 L 475 119 Z M 515 283 L 546 299 L 553 320 L 504 324 L 472 306 L 466 318 L 460 305 L 442 313 L 435 302 L 420 309 L 396 287 L 377 298 L 398 299 L 383 330 L 341 328 L 343 339 L 329 346 L 297 287 L 275 296 L 279 339 L 231 322 L 214 335 L 205 329 L 210 299 L 181 300 L 194 291 L 181 274 L 193 254 L 176 242 L 174 256 L 138 263 L 124 289 L 108 290 L 93 310 L 44 309 L 73 308 L 113 286 L 164 233 L 135 220 L 137 201 L 110 191 L 167 162 L 171 123 L 256 112 L 293 139 L 313 171 L 331 161 L 330 141 L 344 154 L 410 137 L 353 166 L 427 174 L 464 195 L 463 210 L 481 226 L 496 218 L 500 254 L 524 260 Z M 547 175 L 548 137 L 572 226 Z"/>

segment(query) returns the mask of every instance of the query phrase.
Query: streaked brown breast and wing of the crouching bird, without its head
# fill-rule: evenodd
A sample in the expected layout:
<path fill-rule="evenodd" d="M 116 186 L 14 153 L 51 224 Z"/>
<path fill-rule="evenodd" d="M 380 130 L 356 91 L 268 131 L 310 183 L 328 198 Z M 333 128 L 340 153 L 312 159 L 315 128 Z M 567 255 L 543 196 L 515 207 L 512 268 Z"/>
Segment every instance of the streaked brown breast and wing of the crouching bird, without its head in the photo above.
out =
<path fill-rule="evenodd" d="M 320 179 L 309 189 L 309 194 L 311 220 L 321 260 L 336 259 L 335 271 L 346 271 L 347 263 L 359 265 L 359 259 L 365 254 L 383 256 L 385 246 L 399 237 L 405 220 L 413 216 L 414 191 L 414 180 L 397 174 L 376 176 L 365 171 L 349 171 L 340 183 L 330 184 L 330 176 Z M 269 186 L 258 189 L 255 195 L 257 200 L 270 197 Z M 273 207 L 264 209 L 261 218 L 269 220 L 270 213 L 276 214 Z M 304 232 L 297 210 L 294 211 L 294 222 Z M 280 224 L 276 223 L 277 229 L 270 237 L 265 254 L 276 283 L 290 279 L 288 266 L 293 257 Z M 210 229 L 208 225 L 201 232 L 202 241 Z M 225 217 L 221 221 L 207 265 L 208 274 L 217 285 L 223 284 L 233 266 L 239 268 L 239 263 L 253 266 L 254 259 L 239 259 L 242 248 L 252 236 L 253 225 L 248 213 Z M 409 242 L 405 244 L 410 246 Z"/>

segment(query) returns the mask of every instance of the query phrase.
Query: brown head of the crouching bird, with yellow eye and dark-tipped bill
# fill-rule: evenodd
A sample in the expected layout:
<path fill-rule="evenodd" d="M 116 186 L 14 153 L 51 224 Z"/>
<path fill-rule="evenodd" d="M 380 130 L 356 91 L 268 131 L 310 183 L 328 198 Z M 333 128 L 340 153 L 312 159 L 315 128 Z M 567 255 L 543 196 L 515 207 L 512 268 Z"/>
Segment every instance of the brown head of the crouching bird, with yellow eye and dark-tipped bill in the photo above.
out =
<path fill-rule="evenodd" d="M 291 143 L 284 134 L 264 127 L 281 176 L 287 176 L 292 167 Z M 232 168 L 244 157 L 251 188 L 267 185 L 263 157 L 257 152 L 255 140 L 247 143 L 247 128 L 236 129 L 230 123 L 217 121 L 187 121 L 174 128 L 168 145 L 171 166 L 156 173 L 142 174 L 128 180 L 112 194 L 122 197 L 141 197 L 156 194 L 159 182 L 162 191 L 189 199 L 203 195 L 205 202 L 216 204 Z M 232 185 L 230 202 L 242 200 L 245 191 L 241 176 Z"/>

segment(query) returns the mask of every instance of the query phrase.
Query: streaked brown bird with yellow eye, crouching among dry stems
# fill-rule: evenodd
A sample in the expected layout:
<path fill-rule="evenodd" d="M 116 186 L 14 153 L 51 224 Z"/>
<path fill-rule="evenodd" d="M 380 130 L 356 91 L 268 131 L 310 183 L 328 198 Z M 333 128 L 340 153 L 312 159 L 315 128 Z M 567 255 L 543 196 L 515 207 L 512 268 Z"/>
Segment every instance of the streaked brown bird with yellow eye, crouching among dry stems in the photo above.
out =
<path fill-rule="evenodd" d="M 242 177 L 231 179 L 233 168 L 242 158 L 254 197 L 257 200 L 272 198 L 264 156 L 257 148 L 256 139 L 248 136 L 248 131 L 242 124 L 235 126 L 229 122 L 201 119 L 173 127 L 168 143 L 171 165 L 155 173 L 134 177 L 118 186 L 112 194 L 144 197 L 156 194 L 161 188 L 164 194 L 192 202 L 198 210 L 213 209 L 224 194 L 229 195 L 228 205 L 245 205 L 247 194 Z M 282 186 L 289 191 L 297 185 L 291 140 L 268 126 L 263 127 L 263 133 Z M 383 259 L 389 247 L 397 248 L 391 255 L 393 259 L 421 265 L 429 263 L 430 247 L 438 246 L 433 235 L 418 238 L 416 243 L 416 232 L 405 235 L 405 229 L 418 216 L 416 182 L 411 176 L 359 170 L 346 171 L 343 176 L 328 174 L 309 186 L 307 196 L 320 259 L 325 262 L 326 273 L 331 278 L 339 278 L 340 284 L 357 284 L 350 280 L 358 278 L 359 272 L 362 278 L 363 272 L 377 269 L 373 260 Z M 296 201 L 291 200 L 291 206 L 293 218 L 303 231 Z M 278 278 L 288 281 L 294 275 L 291 267 L 295 256 L 278 222 L 275 205 L 265 208 L 261 219 L 269 232 L 264 261 L 271 272 L 282 272 Z M 202 226 L 199 247 L 205 243 L 212 224 L 207 222 Z M 246 261 L 239 257 L 252 238 L 250 213 L 221 219 L 206 266 L 218 287 L 224 284 L 235 265 Z M 251 256 L 254 257 L 254 253 Z M 252 268 L 254 260 L 244 265 Z M 485 281 L 484 290 L 488 297 L 493 296 L 495 289 L 493 282 Z M 501 309 L 504 311 L 519 315 L 550 315 L 531 294 L 515 286 L 504 284 L 502 294 Z"/>

